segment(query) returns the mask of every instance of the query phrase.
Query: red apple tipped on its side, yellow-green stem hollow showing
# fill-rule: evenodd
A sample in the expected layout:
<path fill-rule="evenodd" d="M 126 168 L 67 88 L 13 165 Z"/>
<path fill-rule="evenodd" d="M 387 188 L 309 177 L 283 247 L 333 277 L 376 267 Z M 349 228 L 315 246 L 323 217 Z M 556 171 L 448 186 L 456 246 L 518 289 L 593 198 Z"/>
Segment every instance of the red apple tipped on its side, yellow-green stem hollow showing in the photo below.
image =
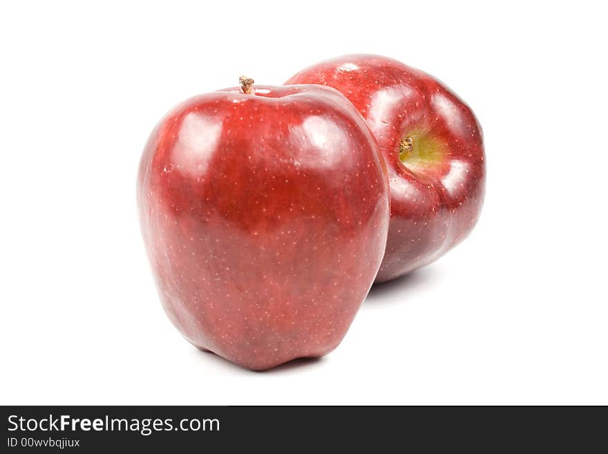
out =
<path fill-rule="evenodd" d="M 428 265 L 471 232 L 485 191 L 482 129 L 471 108 L 446 86 L 379 55 L 330 59 L 286 84 L 336 88 L 377 138 L 391 197 L 388 243 L 377 282 Z"/>

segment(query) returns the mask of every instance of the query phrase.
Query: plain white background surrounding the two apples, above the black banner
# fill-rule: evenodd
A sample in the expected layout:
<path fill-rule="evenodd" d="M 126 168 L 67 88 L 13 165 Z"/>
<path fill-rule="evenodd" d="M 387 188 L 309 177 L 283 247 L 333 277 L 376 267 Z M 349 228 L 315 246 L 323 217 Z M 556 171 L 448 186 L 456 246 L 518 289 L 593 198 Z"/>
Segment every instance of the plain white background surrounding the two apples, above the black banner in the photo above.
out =
<path fill-rule="evenodd" d="M 0 403 L 608 404 L 606 15 L 556 3 L 2 3 Z M 140 153 L 191 95 L 345 53 L 473 107 L 482 218 L 374 287 L 327 357 L 249 372 L 162 311 Z"/>

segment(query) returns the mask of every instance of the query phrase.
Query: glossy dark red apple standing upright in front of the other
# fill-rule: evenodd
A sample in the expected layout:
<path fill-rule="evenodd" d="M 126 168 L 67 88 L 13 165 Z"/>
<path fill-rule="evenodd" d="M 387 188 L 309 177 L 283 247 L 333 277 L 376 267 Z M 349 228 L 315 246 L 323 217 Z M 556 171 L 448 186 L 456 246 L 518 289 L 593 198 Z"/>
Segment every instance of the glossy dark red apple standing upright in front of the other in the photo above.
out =
<path fill-rule="evenodd" d="M 193 97 L 156 126 L 137 199 L 169 319 L 252 370 L 320 357 L 377 274 L 388 175 L 365 120 L 322 86 Z"/>

